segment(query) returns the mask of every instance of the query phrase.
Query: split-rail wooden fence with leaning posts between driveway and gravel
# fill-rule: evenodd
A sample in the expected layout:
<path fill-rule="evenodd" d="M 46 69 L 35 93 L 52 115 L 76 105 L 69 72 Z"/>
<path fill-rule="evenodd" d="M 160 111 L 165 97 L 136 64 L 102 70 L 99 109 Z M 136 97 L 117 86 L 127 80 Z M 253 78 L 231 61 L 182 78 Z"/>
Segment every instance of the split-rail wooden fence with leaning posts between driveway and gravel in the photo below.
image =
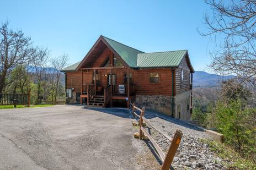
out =
<path fill-rule="evenodd" d="M 140 136 L 139 136 L 139 138 L 142 139 L 143 135 L 147 136 L 147 138 L 151 141 L 151 143 L 153 144 L 154 148 L 156 149 L 157 153 L 159 154 L 159 157 L 161 158 L 161 160 L 163 162 L 161 170 L 169 169 L 170 168 L 170 164 L 172 164 L 172 161 L 173 161 L 173 158 L 175 156 L 175 153 L 177 152 L 177 149 L 179 147 L 180 140 L 182 139 L 182 135 L 183 135 L 182 131 L 177 129 L 175 131 L 175 134 L 174 134 L 173 138 L 170 138 L 170 136 L 168 136 L 168 134 L 166 134 L 163 131 L 161 131 L 159 128 L 157 128 L 155 125 L 153 125 L 150 122 L 150 120 L 148 120 L 148 119 L 146 119 L 144 117 L 144 115 L 145 115 L 145 107 L 140 109 L 140 108 L 136 107 L 134 103 L 130 103 L 130 105 L 132 107 L 132 114 L 134 115 L 134 117 L 140 118 L 140 120 L 139 120 L 139 125 L 140 125 Z M 138 115 L 135 112 L 136 110 L 140 112 L 140 115 Z M 143 127 L 143 121 L 147 125 L 150 125 L 150 127 L 152 127 L 154 130 L 156 130 L 160 134 L 162 134 L 169 141 L 171 141 L 169 150 L 167 151 L 166 155 L 164 154 L 163 150 L 159 147 L 157 142 L 152 138 L 150 133 L 148 133 L 147 130 Z"/>

